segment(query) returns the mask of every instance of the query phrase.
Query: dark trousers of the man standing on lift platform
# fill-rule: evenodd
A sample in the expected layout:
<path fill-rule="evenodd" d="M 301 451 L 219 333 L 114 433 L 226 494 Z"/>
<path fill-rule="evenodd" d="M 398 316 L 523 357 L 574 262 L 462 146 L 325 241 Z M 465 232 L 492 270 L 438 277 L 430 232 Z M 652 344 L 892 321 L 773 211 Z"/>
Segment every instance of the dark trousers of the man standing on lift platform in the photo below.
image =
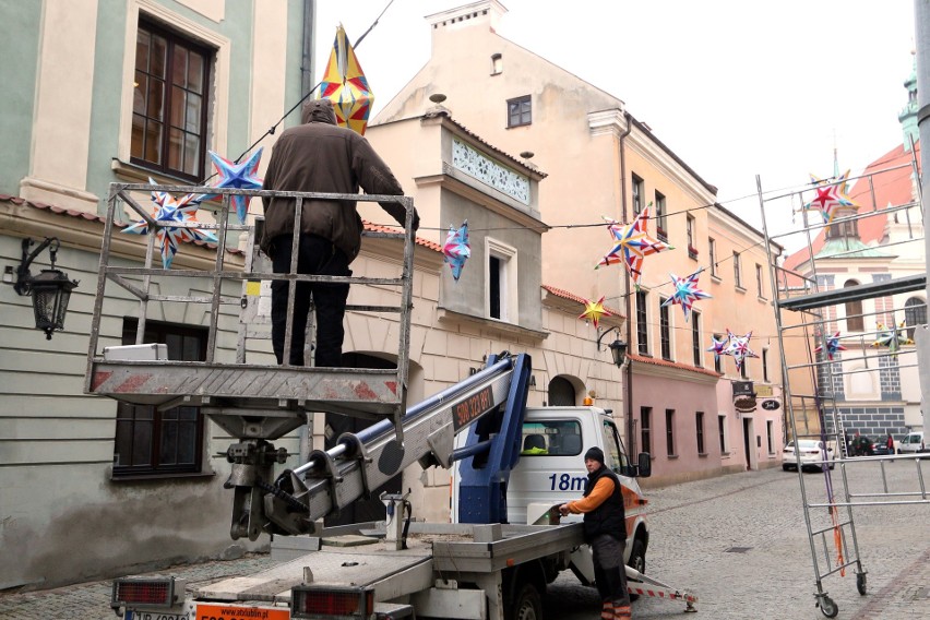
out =
<path fill-rule="evenodd" d="M 274 254 L 272 267 L 275 273 L 290 272 L 289 235 L 275 237 L 272 241 Z M 301 235 L 298 245 L 297 273 L 310 275 L 348 276 L 348 258 L 345 252 L 333 246 L 332 241 L 317 235 Z M 303 366 L 305 333 L 307 317 L 310 313 L 310 298 L 313 298 L 317 314 L 315 366 L 342 366 L 343 338 L 345 329 L 343 318 L 346 312 L 348 284 L 298 282 L 294 298 L 294 325 L 290 338 L 290 363 Z M 272 282 L 272 346 L 277 362 L 284 360 L 284 336 L 287 329 L 287 281 Z"/>

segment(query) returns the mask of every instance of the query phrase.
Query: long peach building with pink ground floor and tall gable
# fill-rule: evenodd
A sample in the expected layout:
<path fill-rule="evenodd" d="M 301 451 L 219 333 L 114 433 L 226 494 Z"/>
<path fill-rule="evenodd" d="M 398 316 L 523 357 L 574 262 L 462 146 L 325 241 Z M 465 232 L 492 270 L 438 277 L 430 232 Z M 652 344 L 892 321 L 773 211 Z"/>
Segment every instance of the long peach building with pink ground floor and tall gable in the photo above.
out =
<path fill-rule="evenodd" d="M 551 229 L 542 239 L 542 282 L 591 300 L 604 296 L 629 317 L 624 403 L 615 416 L 628 443 L 655 457 L 657 482 L 778 465 L 782 410 L 734 408 L 734 381 L 780 396 L 763 235 L 719 205 L 716 188 L 623 100 L 502 36 L 505 13 L 485 0 L 427 16 L 431 57 L 374 124 L 417 118 L 441 99 L 469 130 L 546 170 L 539 210 Z M 381 147 L 390 156 L 403 150 Z M 651 234 L 676 249 L 648 257 L 636 288 L 621 265 L 594 269 L 611 245 L 597 224 L 632 222 L 647 204 Z M 672 291 L 670 273 L 699 270 L 714 299 L 696 303 L 685 321 L 679 307 L 661 303 Z M 764 347 L 751 343 L 762 350 L 748 360 L 746 377 L 729 358 L 715 368 L 705 350 L 727 330 L 765 336 Z"/>

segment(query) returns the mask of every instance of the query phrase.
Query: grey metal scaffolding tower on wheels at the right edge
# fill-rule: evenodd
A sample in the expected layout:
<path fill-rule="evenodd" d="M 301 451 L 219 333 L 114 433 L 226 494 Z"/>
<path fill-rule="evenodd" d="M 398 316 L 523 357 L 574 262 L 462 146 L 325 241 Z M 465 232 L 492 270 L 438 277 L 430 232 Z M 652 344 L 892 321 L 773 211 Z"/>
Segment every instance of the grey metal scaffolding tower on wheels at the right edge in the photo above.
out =
<path fill-rule="evenodd" d="M 883 188 L 892 175 L 899 181 L 903 175 L 907 176 L 908 167 L 914 181 L 914 200 L 879 204 L 877 188 Z M 823 587 L 826 576 L 845 575 L 846 569 L 851 568 L 859 594 L 865 595 L 867 591 L 867 571 L 856 537 L 854 509 L 930 505 L 925 484 L 930 454 L 857 455 L 849 436 L 859 427 L 875 429 L 882 424 L 882 420 L 867 419 L 865 414 L 858 413 L 867 405 L 878 410 L 878 405 L 893 402 L 902 412 L 915 406 L 914 403 L 908 405 L 903 396 L 903 384 L 904 378 L 910 374 L 916 383 L 917 351 L 910 336 L 914 330 L 926 326 L 926 296 L 921 295 L 925 299 L 919 303 L 910 298 L 904 306 L 901 297 L 895 296 L 923 291 L 927 286 L 917 160 L 911 156 L 909 165 L 870 170 L 856 179 L 860 204 L 846 200 L 849 198 L 845 193 L 846 184 L 850 180 L 838 177 L 812 183 L 800 191 L 766 196 L 756 177 L 765 243 L 770 248 L 786 427 L 791 433 L 786 440 L 792 442 L 798 464 L 816 585 L 815 605 L 827 618 L 838 613 L 838 606 Z M 810 208 L 818 199 L 823 199 L 824 190 L 832 190 L 832 198 L 840 203 L 846 200 L 846 204 L 840 204 L 821 222 Z M 770 225 L 789 213 L 792 218 L 800 213 L 802 225 L 786 234 L 770 234 Z M 859 236 L 860 223 L 872 218 L 883 218 L 870 226 L 874 229 L 880 224 L 884 236 L 878 243 L 863 243 Z M 887 234 L 890 224 L 895 226 L 895 235 Z M 798 237 L 803 239 L 803 247 L 791 257 L 789 266 L 778 264 L 779 257 L 771 253 L 771 242 L 797 248 Z M 922 260 L 907 261 L 895 277 L 885 267 L 905 252 Z M 842 274 L 856 270 L 881 272 L 882 275 L 873 276 L 874 282 L 869 283 L 849 281 L 842 285 L 834 282 Z M 919 403 L 918 397 L 916 406 L 919 407 Z M 881 418 L 880 415 L 872 417 Z M 905 419 L 904 413 L 901 419 Z M 906 428 L 898 424 L 883 430 L 893 436 Z M 811 485 L 803 474 L 802 440 L 811 440 L 814 451 L 820 452 L 819 455 L 813 453 L 814 460 L 809 464 L 821 473 L 822 489 Z M 901 462 L 895 465 L 897 467 L 914 467 L 914 477 L 908 477 L 907 488 L 889 484 L 885 466 L 891 462 Z"/>

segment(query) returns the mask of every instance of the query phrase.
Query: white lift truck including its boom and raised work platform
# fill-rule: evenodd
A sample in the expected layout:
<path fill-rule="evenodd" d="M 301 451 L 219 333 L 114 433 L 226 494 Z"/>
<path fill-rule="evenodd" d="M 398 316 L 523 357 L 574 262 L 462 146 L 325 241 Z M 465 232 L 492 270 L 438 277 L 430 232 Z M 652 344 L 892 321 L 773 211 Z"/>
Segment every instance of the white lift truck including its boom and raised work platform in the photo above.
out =
<path fill-rule="evenodd" d="M 178 273 L 153 265 L 148 243 L 145 266 L 110 264 L 115 216 L 132 208 L 150 226 L 152 220 L 132 198 L 150 191 L 144 184 L 114 183 L 100 250 L 99 282 L 88 349 L 85 391 L 130 403 L 171 407 L 200 407 L 230 436 L 238 439 L 227 450 L 231 473 L 226 488 L 233 491 L 230 536 L 262 535 L 300 537 L 308 552 L 269 571 L 235 577 L 188 591 L 170 576 L 126 577 L 114 582 L 111 606 L 126 620 L 317 620 L 391 618 L 461 618 L 476 620 L 534 620 L 542 618 L 541 598 L 547 584 L 565 569 L 583 583 L 593 570 L 585 555 L 581 523 L 560 524 L 556 504 L 581 494 L 583 453 L 600 446 L 608 465 L 622 475 L 628 506 L 629 561 L 634 579 L 647 580 L 644 568 L 648 532 L 636 476 L 649 474 L 649 455 L 630 463 L 610 416 L 600 409 L 540 408 L 527 413 L 532 362 L 525 354 L 489 356 L 485 369 L 462 382 L 406 406 L 412 308 L 413 201 L 406 196 L 343 194 L 288 194 L 296 200 L 300 220 L 302 201 L 397 201 L 407 208 L 402 234 L 378 233 L 404 243 L 400 277 L 311 276 L 271 273 L 267 261 L 254 249 L 245 270 L 224 265 L 217 252 L 214 270 Z M 220 246 L 228 233 L 254 229 L 230 224 L 230 196 L 269 194 L 219 188 L 155 188 L 163 191 L 220 194 L 222 213 L 216 225 Z M 295 260 L 296 262 L 296 260 Z M 172 295 L 159 291 L 159 277 L 183 275 L 208 282 L 207 295 Z M 241 297 L 230 297 L 226 281 L 241 281 Z M 247 360 L 246 342 L 255 327 L 243 315 L 259 302 L 262 281 L 334 282 L 396 286 L 400 306 L 347 307 L 348 311 L 395 313 L 398 319 L 398 355 L 393 369 L 302 368 L 257 365 Z M 103 319 L 108 310 L 108 282 L 140 300 L 134 345 L 103 347 Z M 167 285 L 166 285 L 167 288 Z M 210 306 L 210 337 L 202 361 L 165 359 L 159 347 L 147 346 L 144 322 L 150 302 Z M 239 342 L 235 358 L 217 346 L 220 307 L 241 306 Z M 288 313 L 285 342 L 293 319 Z M 146 345 L 146 346 L 143 346 Z M 286 346 L 287 348 L 287 346 Z M 224 357 L 227 356 L 227 357 Z M 288 351 L 285 350 L 285 359 Z M 306 463 L 275 475 L 287 452 L 272 441 L 306 424 L 308 412 L 327 412 L 375 418 L 381 421 L 358 432 L 341 436 L 334 448 L 317 450 Z M 468 431 L 467 437 L 463 431 Z M 456 437 L 460 440 L 456 446 Z M 422 467 L 450 468 L 458 463 L 453 488 L 456 516 L 453 523 L 424 523 L 413 518 L 408 494 L 384 494 L 386 517 L 381 522 L 324 528 L 322 518 L 374 491 L 398 473 L 419 463 Z M 696 600 L 652 580 L 693 609 Z M 658 591 L 657 591 L 658 592 Z"/>

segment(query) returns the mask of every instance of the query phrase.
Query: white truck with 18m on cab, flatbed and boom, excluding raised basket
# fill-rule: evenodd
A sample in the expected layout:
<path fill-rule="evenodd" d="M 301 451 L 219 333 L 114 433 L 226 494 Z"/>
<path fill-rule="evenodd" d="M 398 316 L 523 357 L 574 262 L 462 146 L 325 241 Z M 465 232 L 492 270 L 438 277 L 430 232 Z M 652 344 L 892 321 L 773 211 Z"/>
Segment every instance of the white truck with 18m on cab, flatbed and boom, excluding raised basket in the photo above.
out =
<path fill-rule="evenodd" d="M 581 496 L 583 454 L 592 445 L 622 475 L 628 549 L 642 570 L 648 533 L 635 476 L 648 475 L 648 454 L 632 465 L 603 409 L 527 409 L 529 363 L 526 355 L 491 356 L 485 370 L 412 407 L 403 419 L 401 455 L 385 420 L 347 433 L 336 448 L 279 476 L 265 496 L 266 516 L 294 534 L 307 529 L 307 555 L 189 593 L 170 577 L 117 580 L 114 608 L 127 620 L 541 619 L 546 586 L 561 571 L 593 582 L 582 524 L 559 524 L 551 510 Z M 468 440 L 454 448 L 454 434 L 466 429 Z M 384 522 L 319 526 L 318 518 L 377 486 L 392 458 L 401 467 L 458 463 L 457 523 L 415 521 L 406 496 L 394 494 L 382 497 Z M 151 593 L 162 598 L 141 598 Z M 687 593 L 669 596 L 675 594 L 689 607 L 695 600 Z"/>

